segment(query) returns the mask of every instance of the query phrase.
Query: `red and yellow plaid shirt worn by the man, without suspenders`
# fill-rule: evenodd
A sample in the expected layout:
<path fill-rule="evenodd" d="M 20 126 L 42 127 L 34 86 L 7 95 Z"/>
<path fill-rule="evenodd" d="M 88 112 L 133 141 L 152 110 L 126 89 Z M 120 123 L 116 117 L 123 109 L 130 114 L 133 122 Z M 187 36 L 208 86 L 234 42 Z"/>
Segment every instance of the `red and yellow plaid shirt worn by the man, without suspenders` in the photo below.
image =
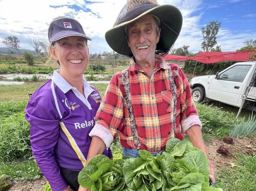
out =
<path fill-rule="evenodd" d="M 158 62 L 151 77 L 135 64 L 133 58 L 128 68 L 132 109 L 141 149 L 150 152 L 164 150 L 167 140 L 175 137 L 173 117 L 176 117 L 177 135 L 183 135 L 184 128 L 188 129 L 195 124 L 201 126 L 197 109 L 191 98 L 187 78 L 178 65 L 170 64 L 177 87 L 177 111 L 176 116 L 173 116 L 174 100 L 168 77 L 168 65 L 162 57 L 156 56 L 156 58 Z M 106 137 L 102 136 L 109 136 L 111 133 L 114 138 L 119 136 L 122 146 L 136 149 L 124 95 L 122 73 L 119 72 L 110 80 L 106 94 L 96 113 L 96 125 L 91 136 L 100 136 L 102 140 L 105 139 L 106 143 L 108 142 Z M 107 143 L 106 145 L 108 147 Z"/>

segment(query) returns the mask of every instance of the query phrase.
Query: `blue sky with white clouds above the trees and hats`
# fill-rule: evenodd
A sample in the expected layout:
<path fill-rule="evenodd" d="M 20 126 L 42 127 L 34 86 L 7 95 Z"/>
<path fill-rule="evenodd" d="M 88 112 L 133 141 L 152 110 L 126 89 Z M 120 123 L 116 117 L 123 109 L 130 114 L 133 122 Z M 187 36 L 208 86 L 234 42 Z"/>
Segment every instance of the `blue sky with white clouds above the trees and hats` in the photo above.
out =
<path fill-rule="evenodd" d="M 245 40 L 256 40 L 256 0 L 158 0 L 180 9 L 183 26 L 174 48 L 189 45 L 189 51 L 201 50 L 202 27 L 212 20 L 221 22 L 217 45 L 223 51 L 236 51 Z M 21 48 L 33 49 L 29 38 L 48 42 L 47 30 L 56 16 L 77 19 L 85 33 L 93 38 L 91 53 L 111 51 L 104 34 L 110 29 L 126 0 L 0 0 L 0 47 L 6 36 L 15 35 Z"/>

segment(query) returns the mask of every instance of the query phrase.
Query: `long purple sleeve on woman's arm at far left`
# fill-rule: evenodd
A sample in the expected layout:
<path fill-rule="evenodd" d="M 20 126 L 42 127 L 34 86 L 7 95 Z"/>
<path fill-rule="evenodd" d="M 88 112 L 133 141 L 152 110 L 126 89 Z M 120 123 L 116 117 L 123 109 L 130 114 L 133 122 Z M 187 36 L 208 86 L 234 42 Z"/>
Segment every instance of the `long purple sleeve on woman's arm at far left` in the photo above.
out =
<path fill-rule="evenodd" d="M 40 170 L 53 191 L 63 191 L 67 183 L 61 176 L 54 155 L 59 136 L 59 116 L 40 102 L 30 100 L 25 118 L 30 122 L 32 153 Z"/>

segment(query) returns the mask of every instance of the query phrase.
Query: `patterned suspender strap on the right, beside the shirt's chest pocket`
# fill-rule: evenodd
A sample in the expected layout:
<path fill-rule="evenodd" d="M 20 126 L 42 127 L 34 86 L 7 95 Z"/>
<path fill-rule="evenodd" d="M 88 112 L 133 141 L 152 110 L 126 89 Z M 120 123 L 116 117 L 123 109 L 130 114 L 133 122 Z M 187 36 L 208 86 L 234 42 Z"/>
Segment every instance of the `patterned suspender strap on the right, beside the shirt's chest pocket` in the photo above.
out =
<path fill-rule="evenodd" d="M 171 84 L 171 88 L 173 89 L 173 101 L 174 101 L 173 130 L 174 130 L 174 135 L 176 137 L 177 87 L 176 87 L 176 84 L 175 84 L 172 68 L 169 64 L 168 64 L 168 67 L 169 67 L 168 68 L 169 81 L 170 81 L 170 84 Z"/>

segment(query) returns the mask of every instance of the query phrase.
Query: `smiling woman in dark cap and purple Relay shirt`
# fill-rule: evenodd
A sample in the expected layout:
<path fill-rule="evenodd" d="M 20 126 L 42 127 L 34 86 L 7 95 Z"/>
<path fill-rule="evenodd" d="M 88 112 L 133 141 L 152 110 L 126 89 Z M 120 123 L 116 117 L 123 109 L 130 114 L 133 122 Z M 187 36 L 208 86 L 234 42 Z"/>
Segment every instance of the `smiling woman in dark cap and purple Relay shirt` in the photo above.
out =
<path fill-rule="evenodd" d="M 66 17 L 52 21 L 48 38 L 60 70 L 33 93 L 25 117 L 33 156 L 52 190 L 78 190 L 78 173 L 91 144 L 88 134 L 101 102 L 97 89 L 83 78 L 91 38 L 78 21 Z M 104 155 L 112 158 L 110 149 Z"/>

